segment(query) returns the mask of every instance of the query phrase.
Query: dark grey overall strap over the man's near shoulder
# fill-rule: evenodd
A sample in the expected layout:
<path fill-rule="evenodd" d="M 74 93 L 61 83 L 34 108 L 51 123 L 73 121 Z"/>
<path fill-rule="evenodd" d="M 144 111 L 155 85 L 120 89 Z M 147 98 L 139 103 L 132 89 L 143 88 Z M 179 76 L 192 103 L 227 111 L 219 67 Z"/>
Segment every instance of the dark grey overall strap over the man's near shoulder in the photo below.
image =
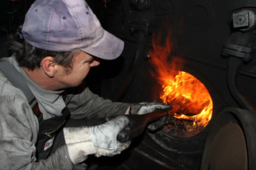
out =
<path fill-rule="evenodd" d="M 41 123 L 43 116 L 38 108 L 37 100 L 35 99 L 35 96 L 33 96 L 29 86 L 21 77 L 21 74 L 19 74 L 15 67 L 6 60 L 0 60 L 0 70 L 2 70 L 2 73 L 6 75 L 14 87 L 21 89 L 21 91 L 25 94 L 27 100 L 29 101 L 30 107 L 33 109 L 33 113 L 37 115 L 37 119 L 39 123 Z"/>

